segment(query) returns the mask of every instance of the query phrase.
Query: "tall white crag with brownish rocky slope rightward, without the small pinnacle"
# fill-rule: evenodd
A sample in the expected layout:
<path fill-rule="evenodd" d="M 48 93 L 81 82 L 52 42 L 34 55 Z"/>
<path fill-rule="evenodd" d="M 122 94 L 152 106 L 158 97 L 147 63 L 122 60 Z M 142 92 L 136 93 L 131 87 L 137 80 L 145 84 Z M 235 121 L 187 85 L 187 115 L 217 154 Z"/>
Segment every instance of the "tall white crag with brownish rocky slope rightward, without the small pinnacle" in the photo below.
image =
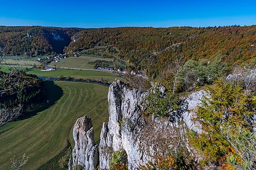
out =
<path fill-rule="evenodd" d="M 185 110 L 192 110 L 200 104 L 204 94 L 205 91 L 200 91 L 189 96 L 183 104 L 184 111 L 174 114 L 170 120 L 155 118 L 155 122 L 151 122 L 142 116 L 143 101 L 148 93 L 130 90 L 119 80 L 113 82 L 108 95 L 109 123 L 101 130 L 100 168 L 109 168 L 110 158 L 118 150 L 126 151 L 129 169 L 139 169 L 139 165 L 154 160 L 152 156 L 158 152 L 177 150 L 179 141 L 184 140 L 184 125 L 200 131 L 190 120 L 194 113 Z M 181 120 L 184 120 L 184 125 L 179 124 Z M 180 147 L 186 149 L 188 146 Z"/>

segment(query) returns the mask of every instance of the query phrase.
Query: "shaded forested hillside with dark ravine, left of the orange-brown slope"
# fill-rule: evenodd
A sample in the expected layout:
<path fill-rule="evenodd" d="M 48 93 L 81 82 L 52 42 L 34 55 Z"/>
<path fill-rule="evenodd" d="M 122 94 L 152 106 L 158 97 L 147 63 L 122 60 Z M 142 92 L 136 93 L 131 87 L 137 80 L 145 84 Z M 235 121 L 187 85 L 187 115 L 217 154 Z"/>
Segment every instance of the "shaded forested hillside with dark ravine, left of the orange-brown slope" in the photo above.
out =
<path fill-rule="evenodd" d="M 7 55 L 42 55 L 63 53 L 71 37 L 80 28 L 54 27 L 0 27 L 0 46 L 6 46 Z"/>

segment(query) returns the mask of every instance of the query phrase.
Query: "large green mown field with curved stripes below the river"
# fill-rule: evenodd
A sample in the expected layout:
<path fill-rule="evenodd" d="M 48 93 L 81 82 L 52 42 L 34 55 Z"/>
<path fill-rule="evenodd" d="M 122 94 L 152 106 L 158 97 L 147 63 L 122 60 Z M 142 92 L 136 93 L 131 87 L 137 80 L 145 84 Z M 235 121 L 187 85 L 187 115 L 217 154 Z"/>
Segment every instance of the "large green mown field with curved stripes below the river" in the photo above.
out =
<path fill-rule="evenodd" d="M 45 82 L 45 87 L 48 96 L 42 111 L 0 127 L 0 169 L 10 168 L 10 158 L 22 154 L 29 157 L 22 169 L 36 169 L 63 151 L 68 140 L 74 145 L 73 125 L 84 114 L 92 118 L 95 140 L 99 139 L 102 123 L 108 122 L 107 86 Z"/>

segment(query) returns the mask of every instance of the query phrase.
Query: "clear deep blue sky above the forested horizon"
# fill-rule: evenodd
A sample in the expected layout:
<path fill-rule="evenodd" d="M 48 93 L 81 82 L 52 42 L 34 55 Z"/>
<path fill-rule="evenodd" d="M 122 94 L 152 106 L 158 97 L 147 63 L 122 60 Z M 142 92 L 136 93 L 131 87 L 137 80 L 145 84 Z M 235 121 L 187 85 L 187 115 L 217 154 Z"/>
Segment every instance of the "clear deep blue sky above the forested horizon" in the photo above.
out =
<path fill-rule="evenodd" d="M 208 27 L 256 24 L 256 1 L 3 1 L 0 25 Z"/>

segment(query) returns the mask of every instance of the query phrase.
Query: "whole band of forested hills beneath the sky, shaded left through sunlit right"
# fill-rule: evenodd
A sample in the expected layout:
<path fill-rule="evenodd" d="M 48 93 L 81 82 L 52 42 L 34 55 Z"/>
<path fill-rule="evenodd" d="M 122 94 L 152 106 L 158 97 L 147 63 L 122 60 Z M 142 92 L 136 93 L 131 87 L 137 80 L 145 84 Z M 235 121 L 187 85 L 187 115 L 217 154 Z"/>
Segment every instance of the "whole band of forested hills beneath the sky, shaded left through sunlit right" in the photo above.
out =
<path fill-rule="evenodd" d="M 105 53 L 125 59 L 135 69 L 146 69 L 152 78 L 177 56 L 186 60 L 217 54 L 233 64 L 256 57 L 256 25 L 229 27 L 119 27 L 53 28 L 0 27 L 0 46 L 7 55 L 42 55 L 77 52 L 94 46 L 107 46 Z M 65 48 L 65 46 L 68 46 Z"/>

